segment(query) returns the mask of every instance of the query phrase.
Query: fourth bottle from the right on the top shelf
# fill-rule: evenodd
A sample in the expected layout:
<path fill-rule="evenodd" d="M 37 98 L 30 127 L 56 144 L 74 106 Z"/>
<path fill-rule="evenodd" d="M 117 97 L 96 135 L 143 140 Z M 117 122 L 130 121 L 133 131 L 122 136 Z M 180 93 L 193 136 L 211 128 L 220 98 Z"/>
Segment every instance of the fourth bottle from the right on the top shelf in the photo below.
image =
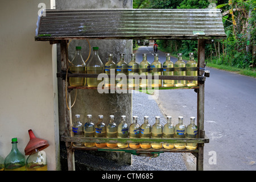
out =
<path fill-rule="evenodd" d="M 150 65 L 152 76 L 160 76 L 162 72 L 160 69 L 162 68 L 162 63 L 158 60 L 158 53 L 154 54 L 154 61 Z M 160 87 L 162 86 L 162 80 L 154 78 L 152 80 L 152 87 Z"/>

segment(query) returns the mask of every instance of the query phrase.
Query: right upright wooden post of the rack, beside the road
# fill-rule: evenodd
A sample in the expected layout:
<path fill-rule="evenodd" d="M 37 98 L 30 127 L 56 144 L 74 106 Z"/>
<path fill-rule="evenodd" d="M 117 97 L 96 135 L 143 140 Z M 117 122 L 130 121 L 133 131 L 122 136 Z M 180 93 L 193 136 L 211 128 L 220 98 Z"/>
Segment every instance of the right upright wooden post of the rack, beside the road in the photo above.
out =
<path fill-rule="evenodd" d="M 205 67 L 205 40 L 198 40 L 198 76 L 203 76 Z M 199 81 L 199 91 L 197 92 L 197 127 L 199 130 L 199 138 L 204 138 L 204 81 Z M 198 156 L 196 160 L 196 169 L 203 171 L 204 169 L 204 144 L 198 144 Z"/>

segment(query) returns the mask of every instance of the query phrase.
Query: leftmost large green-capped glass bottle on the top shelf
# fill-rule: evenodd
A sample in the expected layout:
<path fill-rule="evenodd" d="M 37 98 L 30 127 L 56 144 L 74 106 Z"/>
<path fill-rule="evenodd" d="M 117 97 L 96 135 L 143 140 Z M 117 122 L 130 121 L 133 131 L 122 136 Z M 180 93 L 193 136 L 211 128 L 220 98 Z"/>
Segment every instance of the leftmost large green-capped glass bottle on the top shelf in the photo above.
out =
<path fill-rule="evenodd" d="M 71 73 L 86 73 L 86 64 L 84 59 L 82 58 L 81 54 L 81 47 L 76 47 L 76 53 L 69 64 L 69 71 Z M 71 86 L 85 86 L 86 85 L 86 78 L 82 77 L 69 77 L 69 85 Z"/>

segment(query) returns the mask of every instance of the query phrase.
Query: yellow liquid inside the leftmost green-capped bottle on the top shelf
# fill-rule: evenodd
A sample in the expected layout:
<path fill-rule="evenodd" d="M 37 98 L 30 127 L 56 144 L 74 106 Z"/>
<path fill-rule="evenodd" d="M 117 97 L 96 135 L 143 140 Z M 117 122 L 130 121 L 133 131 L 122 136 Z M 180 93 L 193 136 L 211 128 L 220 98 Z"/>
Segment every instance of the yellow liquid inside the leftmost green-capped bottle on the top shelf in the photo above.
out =
<path fill-rule="evenodd" d="M 86 73 L 86 67 L 69 67 L 72 73 Z M 80 77 L 69 77 L 70 86 L 85 86 L 86 79 Z"/>

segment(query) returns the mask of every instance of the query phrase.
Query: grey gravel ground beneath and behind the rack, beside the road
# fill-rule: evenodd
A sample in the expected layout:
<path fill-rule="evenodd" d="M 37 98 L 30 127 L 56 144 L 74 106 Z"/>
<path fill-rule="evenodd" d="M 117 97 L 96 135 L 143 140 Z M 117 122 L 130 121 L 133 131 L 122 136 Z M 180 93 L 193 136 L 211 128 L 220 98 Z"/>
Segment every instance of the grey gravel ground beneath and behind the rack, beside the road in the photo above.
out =
<path fill-rule="evenodd" d="M 158 104 L 150 94 L 134 91 L 133 93 L 133 115 L 138 116 L 138 123 L 142 125 L 144 115 L 148 115 L 150 125 L 154 125 L 155 117 L 160 117 L 162 126 L 166 118 L 159 109 Z M 107 155 L 107 154 L 106 154 Z M 118 164 L 101 156 L 77 150 L 75 152 L 76 171 L 104 170 L 104 171 L 187 171 L 183 159 L 183 153 L 164 152 L 156 158 L 132 155 L 131 165 Z M 80 156 L 80 157 L 76 157 Z M 81 158 L 81 156 L 85 156 Z M 61 145 L 61 169 L 67 170 L 67 153 L 65 146 Z"/>

